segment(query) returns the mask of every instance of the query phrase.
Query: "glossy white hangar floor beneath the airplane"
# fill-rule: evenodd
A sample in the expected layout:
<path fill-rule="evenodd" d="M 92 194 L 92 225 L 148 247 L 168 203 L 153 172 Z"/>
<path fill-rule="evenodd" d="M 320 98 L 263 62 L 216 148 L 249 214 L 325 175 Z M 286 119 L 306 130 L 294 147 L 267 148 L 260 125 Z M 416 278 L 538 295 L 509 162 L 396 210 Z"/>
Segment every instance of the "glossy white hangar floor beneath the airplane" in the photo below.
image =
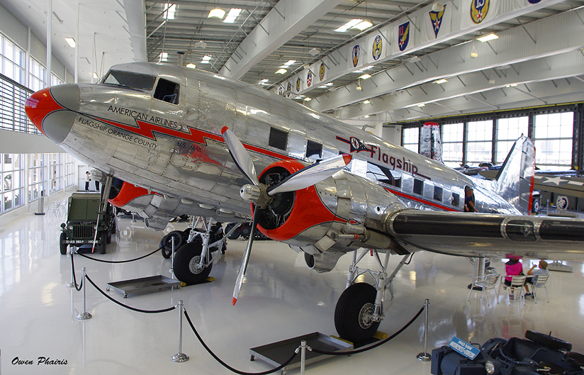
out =
<path fill-rule="evenodd" d="M 57 242 L 62 218 L 28 215 L 0 233 L 0 356 L 2 374 L 231 374 L 211 357 L 184 321 L 182 352 L 190 360 L 171 361 L 178 352 L 178 310 L 144 314 L 117 306 L 88 284 L 87 309 L 93 318 L 77 320 L 82 293 L 67 289 L 69 257 Z M 178 225 L 177 225 L 178 226 Z M 162 233 L 142 222 L 120 220 L 120 232 L 101 259 L 132 259 L 157 248 Z M 316 274 L 303 257 L 286 245 L 257 241 L 237 306 L 231 294 L 245 242 L 230 241 L 227 254 L 213 266 L 215 281 L 174 291 L 159 291 L 123 299 L 128 306 L 155 310 L 184 301 L 193 323 L 213 351 L 231 366 L 258 372 L 271 367 L 249 361 L 249 348 L 310 332 L 336 335 L 335 303 L 344 289 L 350 256 L 342 257 L 327 274 Z M 369 257 L 368 257 L 369 258 Z M 399 257 L 391 259 L 395 267 Z M 367 259 L 371 262 L 371 259 Z M 373 264 L 373 262 L 371 262 Z M 524 262 L 527 264 L 527 261 Z M 395 279 L 395 303 L 380 330 L 393 333 L 412 318 L 429 298 L 428 352 L 456 335 L 483 343 L 490 337 L 512 337 L 525 330 L 551 331 L 584 352 L 584 283 L 582 263 L 573 273 L 554 272 L 549 280 L 550 303 L 541 291 L 538 303 L 526 305 L 504 294 L 490 306 L 480 293 L 466 301 L 473 267 L 464 258 L 421 252 Z M 493 265 L 502 272 L 500 259 Z M 157 253 L 125 264 L 105 264 L 75 257 L 79 271 L 102 289 L 111 281 L 142 276 L 170 276 L 170 260 Z M 393 267 L 392 267 L 393 269 Z M 502 292 L 502 289 L 501 289 Z M 307 367 L 306 374 L 429 374 L 430 363 L 419 362 L 423 350 L 423 315 L 408 330 L 383 347 L 352 357 L 327 359 Z M 33 364 L 13 364 L 18 357 Z M 38 357 L 67 362 L 40 364 Z M 288 374 L 298 374 L 298 370 Z"/>

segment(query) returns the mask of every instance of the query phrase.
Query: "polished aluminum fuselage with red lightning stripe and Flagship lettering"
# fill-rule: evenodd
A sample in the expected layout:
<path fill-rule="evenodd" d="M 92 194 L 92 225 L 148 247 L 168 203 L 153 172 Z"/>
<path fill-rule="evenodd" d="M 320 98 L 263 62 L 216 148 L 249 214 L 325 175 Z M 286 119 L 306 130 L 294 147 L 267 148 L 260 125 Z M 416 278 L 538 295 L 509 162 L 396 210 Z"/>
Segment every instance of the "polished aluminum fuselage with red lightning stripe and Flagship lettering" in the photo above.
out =
<path fill-rule="evenodd" d="M 249 203 L 239 196 L 247 181 L 220 136 L 223 126 L 242 140 L 259 171 L 279 159 L 315 162 L 306 157 L 308 140 L 322 144 L 322 159 L 350 152 L 354 174 L 381 184 L 409 208 L 462 211 L 464 186 L 475 185 L 443 164 L 255 86 L 172 65 L 135 63 L 112 69 L 179 83 L 179 103 L 154 99 L 152 91 L 79 85 L 79 115 L 62 147 L 114 177 L 181 198 L 191 206 L 185 206 L 186 213 L 198 213 L 192 208 L 198 204 L 235 216 L 249 214 Z M 270 128 L 288 133 L 285 150 L 269 146 Z M 365 172 L 367 163 L 391 169 L 399 186 L 378 182 L 375 173 Z M 424 181 L 422 191 L 415 191 L 415 179 Z M 435 196 L 437 188 L 441 196 Z M 453 194 L 459 197 L 457 204 Z M 476 188 L 476 206 L 482 212 L 518 213 L 481 187 Z"/>

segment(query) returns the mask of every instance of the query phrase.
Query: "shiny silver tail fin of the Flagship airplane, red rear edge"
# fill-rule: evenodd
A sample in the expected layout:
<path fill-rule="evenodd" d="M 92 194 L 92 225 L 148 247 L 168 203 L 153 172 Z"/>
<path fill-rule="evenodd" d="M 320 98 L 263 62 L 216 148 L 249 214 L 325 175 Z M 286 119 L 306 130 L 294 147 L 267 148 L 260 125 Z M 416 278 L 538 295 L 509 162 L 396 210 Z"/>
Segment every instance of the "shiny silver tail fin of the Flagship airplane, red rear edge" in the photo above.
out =
<path fill-rule="evenodd" d="M 495 191 L 524 215 L 529 215 L 533 201 L 535 147 L 522 135 L 496 177 Z"/>

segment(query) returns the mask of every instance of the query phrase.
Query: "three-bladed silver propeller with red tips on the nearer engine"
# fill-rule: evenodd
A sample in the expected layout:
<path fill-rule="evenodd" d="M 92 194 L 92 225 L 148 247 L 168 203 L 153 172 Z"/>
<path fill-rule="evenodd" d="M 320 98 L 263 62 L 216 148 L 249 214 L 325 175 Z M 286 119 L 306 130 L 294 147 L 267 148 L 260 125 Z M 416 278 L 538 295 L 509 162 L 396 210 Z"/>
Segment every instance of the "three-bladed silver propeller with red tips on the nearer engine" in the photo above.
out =
<path fill-rule="evenodd" d="M 232 303 L 235 306 L 237 297 L 240 294 L 247 264 L 249 263 L 249 254 L 252 252 L 252 244 L 254 242 L 257 220 L 259 218 L 259 209 L 268 206 L 272 200 L 271 197 L 275 194 L 284 193 L 286 191 L 301 190 L 313 186 L 314 184 L 318 184 L 318 182 L 332 176 L 346 167 L 347 164 L 351 162 L 352 157 L 351 155 L 343 154 L 312 164 L 268 188 L 266 185 L 261 184 L 257 179 L 254 162 L 249 156 L 247 150 L 245 150 L 242 142 L 237 138 L 237 135 L 235 135 L 235 133 L 233 133 L 227 126 L 224 126 L 223 129 L 221 129 L 221 134 L 223 135 L 225 145 L 227 145 L 229 153 L 237 165 L 237 168 L 239 168 L 249 182 L 252 183 L 242 186 L 240 195 L 245 200 L 254 203 L 252 230 L 251 233 L 249 233 L 249 241 L 247 242 L 247 247 L 243 253 L 240 272 L 237 274 L 237 281 L 235 281 L 235 289 L 233 290 Z"/>

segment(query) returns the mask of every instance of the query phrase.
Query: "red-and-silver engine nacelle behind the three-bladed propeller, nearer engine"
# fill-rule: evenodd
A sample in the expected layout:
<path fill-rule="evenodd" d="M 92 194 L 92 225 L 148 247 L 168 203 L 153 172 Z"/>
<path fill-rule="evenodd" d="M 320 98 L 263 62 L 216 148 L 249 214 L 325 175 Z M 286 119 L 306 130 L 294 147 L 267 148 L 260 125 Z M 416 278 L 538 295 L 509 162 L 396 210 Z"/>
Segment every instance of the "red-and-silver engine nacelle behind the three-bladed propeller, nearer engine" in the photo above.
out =
<path fill-rule="evenodd" d="M 264 169 L 259 181 L 273 186 L 304 167 L 294 160 L 275 162 Z M 259 211 L 258 229 L 273 240 L 313 255 L 315 268 L 322 272 L 335 267 L 345 252 L 393 246 L 395 242 L 383 234 L 383 216 L 405 208 L 383 187 L 344 171 L 314 186 L 273 198 Z M 324 252 L 340 254 L 320 258 Z"/>

